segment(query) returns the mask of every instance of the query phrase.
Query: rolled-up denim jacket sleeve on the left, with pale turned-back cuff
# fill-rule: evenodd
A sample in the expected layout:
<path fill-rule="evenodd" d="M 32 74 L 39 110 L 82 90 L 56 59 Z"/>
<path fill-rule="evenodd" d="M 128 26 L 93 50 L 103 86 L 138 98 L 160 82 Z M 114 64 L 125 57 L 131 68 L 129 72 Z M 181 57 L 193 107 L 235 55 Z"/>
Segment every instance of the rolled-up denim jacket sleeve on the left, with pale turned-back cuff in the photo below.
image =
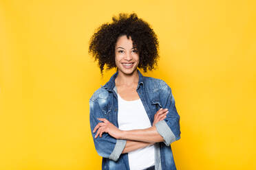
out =
<path fill-rule="evenodd" d="M 94 127 L 100 123 L 97 118 L 105 117 L 103 116 L 102 110 L 100 110 L 100 107 L 98 106 L 98 102 L 89 100 L 89 121 L 91 132 L 94 130 Z M 118 160 L 120 154 L 122 154 L 122 151 L 125 148 L 126 140 L 116 139 L 107 133 L 103 133 L 102 137 L 98 136 L 97 138 L 95 138 L 95 135 L 96 132 L 92 132 L 94 146 L 98 155 L 114 161 Z"/>

